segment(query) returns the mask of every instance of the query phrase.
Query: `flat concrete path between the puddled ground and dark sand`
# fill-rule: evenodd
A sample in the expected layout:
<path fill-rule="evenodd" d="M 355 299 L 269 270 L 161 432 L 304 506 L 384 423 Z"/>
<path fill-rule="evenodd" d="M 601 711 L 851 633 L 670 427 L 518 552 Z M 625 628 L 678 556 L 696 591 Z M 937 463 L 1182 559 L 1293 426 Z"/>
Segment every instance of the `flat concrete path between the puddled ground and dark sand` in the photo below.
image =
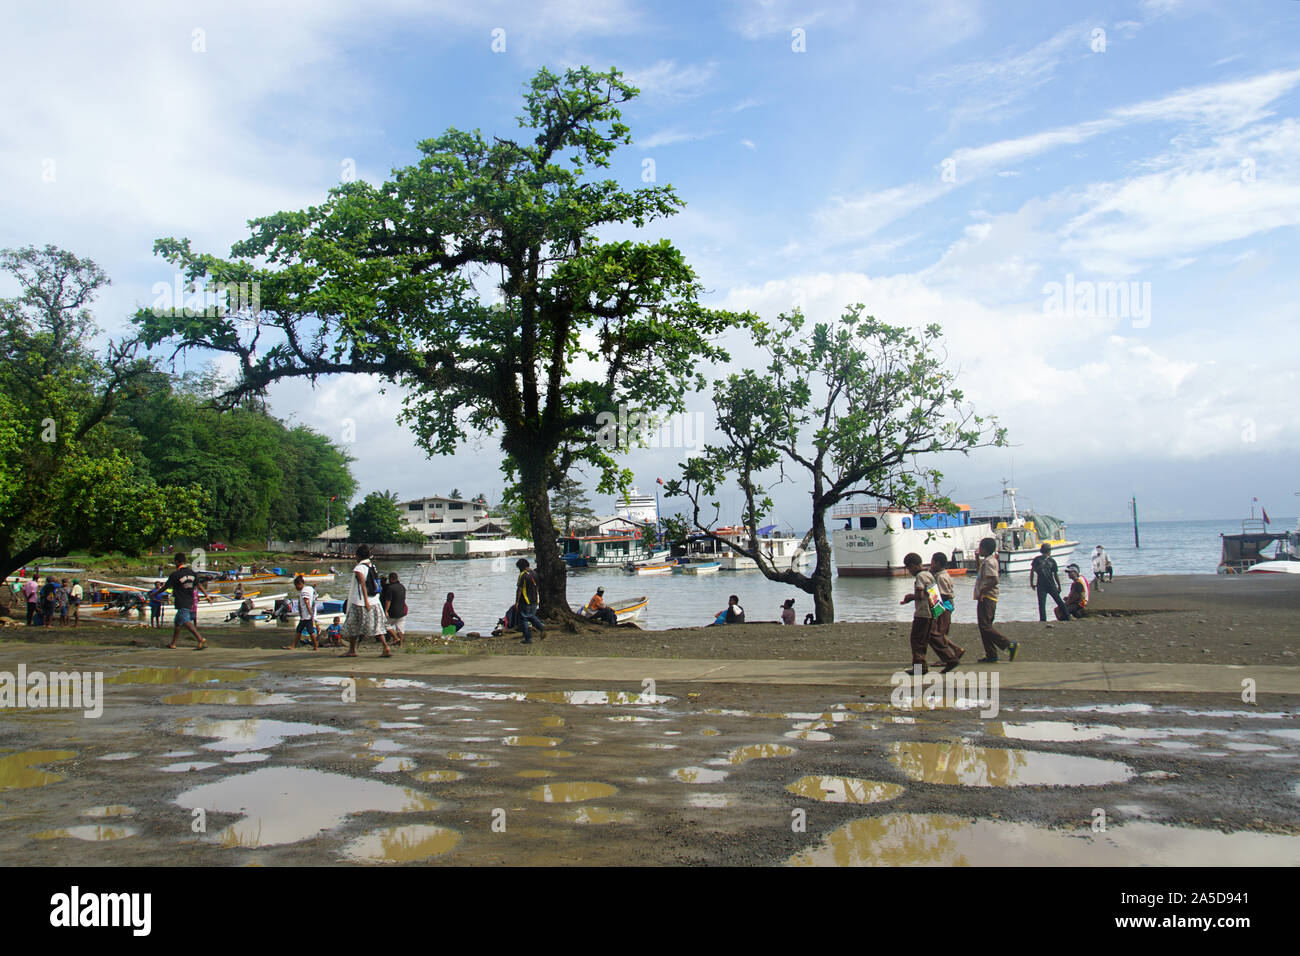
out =
<path fill-rule="evenodd" d="M 692 661 L 628 657 L 519 657 L 486 654 L 404 654 L 380 658 L 367 649 L 358 658 L 337 650 L 237 650 L 209 648 L 104 648 L 52 644 L 0 644 L 0 671 L 69 667 L 248 667 L 281 674 L 365 674 L 458 679 L 530 679 L 582 683 L 644 680 L 699 684 L 780 684 L 820 687 L 889 687 L 896 665 L 867 661 Z M 961 670 L 991 671 L 993 665 Z M 1018 661 L 996 666 L 1004 691 L 1088 691 L 1112 693 L 1240 695 L 1242 682 L 1254 680 L 1256 695 L 1300 695 L 1300 667 L 1200 663 L 1074 663 Z"/>

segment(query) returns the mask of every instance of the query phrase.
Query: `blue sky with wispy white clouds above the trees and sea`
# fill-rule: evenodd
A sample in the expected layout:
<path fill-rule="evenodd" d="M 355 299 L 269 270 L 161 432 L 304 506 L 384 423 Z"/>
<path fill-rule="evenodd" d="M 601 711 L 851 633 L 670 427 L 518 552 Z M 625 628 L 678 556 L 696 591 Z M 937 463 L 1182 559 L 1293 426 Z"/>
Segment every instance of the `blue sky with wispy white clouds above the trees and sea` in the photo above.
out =
<path fill-rule="evenodd" d="M 317 202 L 348 164 L 376 179 L 447 126 L 510 134 L 540 66 L 615 65 L 642 96 L 611 173 L 636 185 L 653 160 L 677 187 L 686 209 L 647 238 L 673 239 L 711 302 L 819 319 L 863 302 L 944 325 L 970 398 L 1017 442 L 941 463 L 958 497 L 1014 471 L 1045 510 L 1122 520 L 1135 492 L 1152 518 L 1199 518 L 1300 490 L 1294 0 L 0 16 L 0 69 L 18 91 L 0 107 L 0 246 L 100 261 L 109 329 L 172 281 L 155 238 L 224 252 L 247 219 Z M 1062 315 L 1048 289 L 1067 281 L 1134 284 L 1138 298 L 1122 315 Z M 732 345 L 738 364 L 759 359 Z M 330 436 L 355 419 L 363 490 L 500 486 L 490 438 L 430 462 L 393 424 L 400 395 L 376 382 L 278 386 L 272 403 Z M 629 463 L 649 486 L 680 457 Z M 777 501 L 806 525 L 798 486 Z"/>

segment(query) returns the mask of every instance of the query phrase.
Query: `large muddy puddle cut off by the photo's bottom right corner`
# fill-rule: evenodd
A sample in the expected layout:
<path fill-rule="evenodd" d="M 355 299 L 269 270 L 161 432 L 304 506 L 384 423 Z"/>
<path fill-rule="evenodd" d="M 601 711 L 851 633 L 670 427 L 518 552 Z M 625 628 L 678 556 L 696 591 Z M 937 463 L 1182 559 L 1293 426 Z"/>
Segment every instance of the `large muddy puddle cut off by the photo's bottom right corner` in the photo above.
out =
<path fill-rule="evenodd" d="M 1134 821 L 1049 830 L 1030 823 L 946 814 L 890 813 L 832 831 L 796 853 L 794 866 L 1294 866 L 1300 836 L 1192 830 Z"/>

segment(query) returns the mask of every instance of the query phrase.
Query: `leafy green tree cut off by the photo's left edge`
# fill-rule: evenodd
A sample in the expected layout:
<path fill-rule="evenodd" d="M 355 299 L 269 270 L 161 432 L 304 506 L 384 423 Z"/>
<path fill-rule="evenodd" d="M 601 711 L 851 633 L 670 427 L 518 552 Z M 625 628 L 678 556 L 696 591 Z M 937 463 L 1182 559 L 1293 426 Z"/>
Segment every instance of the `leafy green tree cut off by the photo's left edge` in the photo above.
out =
<path fill-rule="evenodd" d="M 150 362 L 109 341 L 100 358 L 91 303 L 108 276 L 55 246 L 0 251 L 18 295 L 0 299 L 0 572 L 74 549 L 139 551 L 200 533 L 198 485 L 161 488 L 113 440 L 124 397 Z"/>

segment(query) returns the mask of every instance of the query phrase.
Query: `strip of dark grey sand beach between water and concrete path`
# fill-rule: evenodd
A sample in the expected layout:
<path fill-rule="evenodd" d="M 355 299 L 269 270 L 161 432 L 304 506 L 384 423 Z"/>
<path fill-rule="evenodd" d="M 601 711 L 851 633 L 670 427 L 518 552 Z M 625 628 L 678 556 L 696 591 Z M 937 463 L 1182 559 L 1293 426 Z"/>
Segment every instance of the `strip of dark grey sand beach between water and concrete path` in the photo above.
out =
<path fill-rule="evenodd" d="M 1113 661 L 1117 663 L 1300 665 L 1300 575 L 1165 575 L 1122 578 L 1093 594 L 1091 614 L 1069 623 L 1008 622 L 998 630 L 1020 641 L 1026 661 Z M 982 656 L 975 605 L 958 593 L 953 640 L 967 661 Z M 213 646 L 278 649 L 292 640 L 292 624 L 276 628 L 209 626 Z M 156 646 L 170 630 L 131 624 L 78 628 L 5 627 L 0 639 L 52 644 Z M 182 644 L 192 639 L 182 636 Z M 376 650 L 372 643 L 363 653 Z M 521 646 L 519 635 L 458 639 L 408 633 L 408 653 L 542 654 L 559 657 L 663 657 L 792 661 L 900 661 L 910 658 L 906 622 L 853 622 L 783 627 L 755 622 L 729 627 L 642 631 L 580 624 L 547 628 L 547 640 Z M 312 653 L 308 649 L 295 653 Z M 338 653 L 322 649 L 320 653 Z"/>

